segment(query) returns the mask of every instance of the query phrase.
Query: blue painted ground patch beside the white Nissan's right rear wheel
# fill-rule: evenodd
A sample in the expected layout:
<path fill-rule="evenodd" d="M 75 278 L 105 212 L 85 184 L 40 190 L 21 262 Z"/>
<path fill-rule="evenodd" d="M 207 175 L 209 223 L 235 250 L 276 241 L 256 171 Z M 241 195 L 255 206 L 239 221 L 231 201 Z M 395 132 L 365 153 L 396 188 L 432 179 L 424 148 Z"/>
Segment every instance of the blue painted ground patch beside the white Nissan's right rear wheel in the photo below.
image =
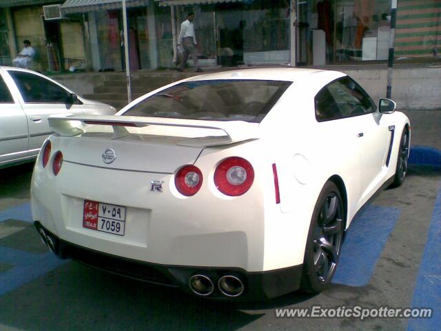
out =
<path fill-rule="evenodd" d="M 349 286 L 367 285 L 399 217 L 400 210 L 397 208 L 369 205 L 353 219 L 332 282 Z"/>

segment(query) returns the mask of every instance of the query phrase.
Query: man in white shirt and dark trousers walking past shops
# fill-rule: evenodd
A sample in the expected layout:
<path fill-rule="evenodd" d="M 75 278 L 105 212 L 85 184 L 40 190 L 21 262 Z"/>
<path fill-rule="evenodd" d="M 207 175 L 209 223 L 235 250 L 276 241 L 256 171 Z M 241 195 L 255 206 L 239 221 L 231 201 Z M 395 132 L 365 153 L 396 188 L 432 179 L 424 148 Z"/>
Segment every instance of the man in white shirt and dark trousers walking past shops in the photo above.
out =
<path fill-rule="evenodd" d="M 201 67 L 199 67 L 198 63 L 198 50 L 196 49 L 196 37 L 194 36 L 193 19 L 194 13 L 189 12 L 187 14 L 187 20 L 181 23 L 181 32 L 179 32 L 178 38 L 178 50 L 183 49 L 183 54 L 181 62 L 176 64 L 176 69 L 179 71 L 184 70 L 189 54 L 192 54 L 196 72 L 203 71 Z"/>

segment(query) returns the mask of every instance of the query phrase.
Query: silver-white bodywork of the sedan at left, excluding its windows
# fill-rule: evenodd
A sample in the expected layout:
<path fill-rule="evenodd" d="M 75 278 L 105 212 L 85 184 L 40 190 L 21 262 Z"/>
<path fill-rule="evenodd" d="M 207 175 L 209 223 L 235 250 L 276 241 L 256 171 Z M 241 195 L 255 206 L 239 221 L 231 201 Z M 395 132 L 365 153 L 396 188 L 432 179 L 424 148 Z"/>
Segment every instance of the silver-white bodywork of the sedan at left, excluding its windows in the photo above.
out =
<path fill-rule="evenodd" d="M 31 77 L 40 77 L 48 83 L 59 86 L 66 93 L 74 94 L 72 90 L 38 72 L 0 66 L 0 83 L 3 81 L 6 84 L 6 89 L 12 97 L 12 102 L 0 100 L 0 168 L 36 159 L 43 141 L 53 132 L 48 123 L 48 117 L 51 114 L 114 114 L 116 112 L 112 106 L 79 96 L 80 102 L 72 105 L 25 102 L 25 98 L 10 75 L 12 72 L 23 72 L 32 75 Z"/>

